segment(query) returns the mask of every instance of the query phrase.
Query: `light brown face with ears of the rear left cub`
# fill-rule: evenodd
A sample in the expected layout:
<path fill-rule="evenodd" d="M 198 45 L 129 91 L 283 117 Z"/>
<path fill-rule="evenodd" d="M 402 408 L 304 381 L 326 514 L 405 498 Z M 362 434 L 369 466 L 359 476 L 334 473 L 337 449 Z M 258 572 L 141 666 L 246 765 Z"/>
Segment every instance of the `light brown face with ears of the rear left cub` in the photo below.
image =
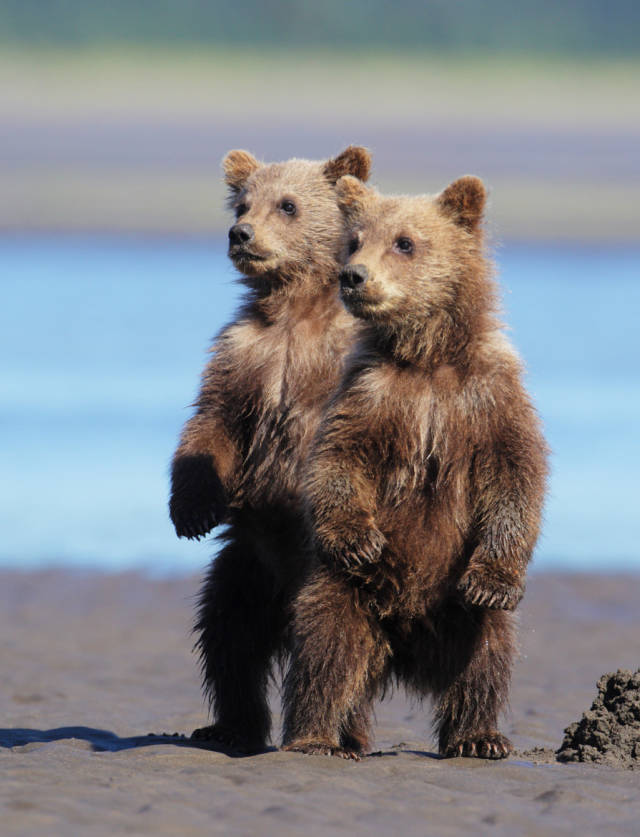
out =
<path fill-rule="evenodd" d="M 232 151 L 223 165 L 235 214 L 229 257 L 245 277 L 281 282 L 335 268 L 345 236 L 335 183 L 351 172 L 366 178 L 365 149 L 350 148 L 325 162 L 270 165 Z"/>

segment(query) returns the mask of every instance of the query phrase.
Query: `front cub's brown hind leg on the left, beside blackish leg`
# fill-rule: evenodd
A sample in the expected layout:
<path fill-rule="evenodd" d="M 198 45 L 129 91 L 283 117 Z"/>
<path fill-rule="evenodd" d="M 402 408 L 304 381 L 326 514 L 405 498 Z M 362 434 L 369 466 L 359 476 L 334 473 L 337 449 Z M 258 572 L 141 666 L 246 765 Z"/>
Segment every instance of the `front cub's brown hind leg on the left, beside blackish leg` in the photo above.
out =
<path fill-rule="evenodd" d="M 284 748 L 359 758 L 389 646 L 339 573 L 318 570 L 295 605 L 284 690 Z"/>

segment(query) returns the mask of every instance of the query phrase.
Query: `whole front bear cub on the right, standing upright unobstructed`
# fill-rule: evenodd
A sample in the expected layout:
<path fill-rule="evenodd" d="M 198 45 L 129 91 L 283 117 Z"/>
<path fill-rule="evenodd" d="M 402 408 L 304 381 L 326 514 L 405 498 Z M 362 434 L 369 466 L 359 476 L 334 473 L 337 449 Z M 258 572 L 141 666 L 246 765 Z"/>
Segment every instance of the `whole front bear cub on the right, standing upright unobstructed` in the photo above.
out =
<path fill-rule="evenodd" d="M 494 316 L 485 190 L 337 191 L 341 295 L 365 326 L 307 466 L 319 561 L 295 601 L 285 749 L 359 758 L 395 680 L 433 696 L 441 754 L 503 758 L 547 449 Z"/>

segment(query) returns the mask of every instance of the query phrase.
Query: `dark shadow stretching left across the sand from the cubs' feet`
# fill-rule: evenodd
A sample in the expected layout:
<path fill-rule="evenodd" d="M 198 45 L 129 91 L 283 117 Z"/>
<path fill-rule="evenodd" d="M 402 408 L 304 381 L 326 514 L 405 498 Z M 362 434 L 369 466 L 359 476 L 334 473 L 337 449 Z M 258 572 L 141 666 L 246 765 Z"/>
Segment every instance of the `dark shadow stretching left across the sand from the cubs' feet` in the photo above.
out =
<path fill-rule="evenodd" d="M 91 744 L 91 749 L 97 753 L 117 753 L 120 750 L 133 750 L 139 747 L 154 747 L 160 744 L 166 744 L 174 747 L 191 747 L 195 750 L 211 750 L 217 753 L 224 753 L 231 758 L 246 758 L 244 754 L 235 753 L 204 741 L 194 741 L 178 732 L 160 734 L 150 732 L 147 735 L 134 735 L 129 738 L 121 738 L 115 732 L 110 732 L 109 730 L 82 726 L 57 727 L 56 729 L 48 730 L 26 729 L 22 727 L 0 729 L 0 747 L 7 749 L 24 747 L 27 744 L 50 744 L 53 741 L 70 739 L 88 741 Z M 269 747 L 264 752 L 275 752 L 275 747 Z"/>

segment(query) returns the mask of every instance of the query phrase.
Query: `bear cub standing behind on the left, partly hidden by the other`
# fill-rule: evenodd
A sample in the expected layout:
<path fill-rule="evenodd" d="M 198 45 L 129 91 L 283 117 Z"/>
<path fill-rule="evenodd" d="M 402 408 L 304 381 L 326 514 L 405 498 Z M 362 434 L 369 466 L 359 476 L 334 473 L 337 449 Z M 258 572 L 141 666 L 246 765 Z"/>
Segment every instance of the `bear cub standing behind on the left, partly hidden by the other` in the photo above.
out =
<path fill-rule="evenodd" d="M 271 165 L 231 151 L 223 163 L 237 219 L 229 256 L 248 295 L 213 346 L 169 508 L 181 537 L 229 524 L 195 627 L 215 722 L 194 735 L 241 752 L 268 740 L 268 678 L 304 565 L 301 466 L 356 331 L 337 291 L 346 232 L 335 184 L 366 179 L 369 165 L 359 147 Z"/>

